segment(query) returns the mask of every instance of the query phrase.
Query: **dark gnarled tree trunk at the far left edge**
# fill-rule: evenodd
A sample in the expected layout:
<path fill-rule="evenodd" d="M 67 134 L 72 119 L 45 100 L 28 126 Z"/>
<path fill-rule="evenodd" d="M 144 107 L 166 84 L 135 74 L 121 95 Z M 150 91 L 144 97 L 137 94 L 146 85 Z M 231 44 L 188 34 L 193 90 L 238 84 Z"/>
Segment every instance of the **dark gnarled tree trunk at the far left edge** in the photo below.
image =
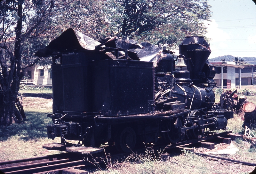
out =
<path fill-rule="evenodd" d="M 23 0 L 17 2 L 15 11 L 19 18 L 17 18 L 17 25 L 15 31 L 15 48 L 14 54 L 5 46 L 9 52 L 10 64 L 6 64 L 7 60 L 3 57 L 2 50 L 0 50 L 0 63 L 2 74 L 0 75 L 1 94 L 3 95 L 3 103 L 0 119 L 2 125 L 11 125 L 12 123 L 20 123 L 25 118 L 25 112 L 18 98 L 20 88 L 20 80 L 23 77 L 23 70 L 21 69 L 21 42 L 22 42 L 22 5 Z M 5 43 L 4 43 L 5 44 Z M 1 99 L 1 98 L 0 98 Z M 1 100 L 0 100 L 1 101 Z M 15 105 L 16 104 L 16 105 Z M 16 107 L 17 106 L 17 107 Z M 17 109 L 19 108 L 19 110 Z M 22 114 L 22 115 L 21 115 Z"/>

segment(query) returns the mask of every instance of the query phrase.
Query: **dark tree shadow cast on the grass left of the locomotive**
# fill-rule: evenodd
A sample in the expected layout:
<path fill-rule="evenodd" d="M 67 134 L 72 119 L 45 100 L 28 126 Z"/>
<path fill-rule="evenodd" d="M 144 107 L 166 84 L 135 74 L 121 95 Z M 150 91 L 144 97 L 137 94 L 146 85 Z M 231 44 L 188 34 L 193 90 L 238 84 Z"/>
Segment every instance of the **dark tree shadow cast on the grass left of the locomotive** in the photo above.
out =
<path fill-rule="evenodd" d="M 19 136 L 22 140 L 36 140 L 47 137 L 46 125 L 52 123 L 52 119 L 46 117 L 44 112 L 26 112 L 26 119 L 21 124 L 0 126 L 0 140 L 7 140 L 11 136 Z"/>

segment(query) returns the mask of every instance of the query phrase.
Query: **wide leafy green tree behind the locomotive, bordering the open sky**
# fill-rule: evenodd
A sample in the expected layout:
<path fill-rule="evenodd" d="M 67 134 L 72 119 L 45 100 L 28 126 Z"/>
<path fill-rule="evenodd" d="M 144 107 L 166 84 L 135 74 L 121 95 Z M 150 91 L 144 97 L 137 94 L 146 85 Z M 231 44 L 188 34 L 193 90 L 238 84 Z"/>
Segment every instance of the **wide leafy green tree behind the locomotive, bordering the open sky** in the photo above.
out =
<path fill-rule="evenodd" d="M 177 46 L 184 36 L 204 35 L 206 0 L 109 0 L 109 21 L 118 36 Z"/>

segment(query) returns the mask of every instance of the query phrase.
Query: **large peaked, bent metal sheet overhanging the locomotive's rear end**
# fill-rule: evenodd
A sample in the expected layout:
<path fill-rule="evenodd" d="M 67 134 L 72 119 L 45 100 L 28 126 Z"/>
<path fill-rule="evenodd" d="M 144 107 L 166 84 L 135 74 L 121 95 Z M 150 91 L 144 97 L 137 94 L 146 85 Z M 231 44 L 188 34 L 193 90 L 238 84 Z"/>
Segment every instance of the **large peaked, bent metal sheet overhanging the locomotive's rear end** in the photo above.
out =
<path fill-rule="evenodd" d="M 59 37 L 50 42 L 47 47 L 37 51 L 35 56 L 48 57 L 74 51 L 94 50 L 97 45 L 100 45 L 100 42 L 73 28 L 68 28 Z"/>

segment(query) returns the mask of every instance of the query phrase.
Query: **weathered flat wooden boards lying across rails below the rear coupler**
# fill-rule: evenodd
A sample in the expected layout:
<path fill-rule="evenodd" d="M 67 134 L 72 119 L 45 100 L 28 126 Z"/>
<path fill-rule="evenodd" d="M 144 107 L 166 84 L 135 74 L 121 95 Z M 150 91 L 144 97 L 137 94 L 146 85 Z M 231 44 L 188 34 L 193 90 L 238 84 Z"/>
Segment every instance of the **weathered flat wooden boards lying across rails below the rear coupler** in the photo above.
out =
<path fill-rule="evenodd" d="M 84 146 L 68 147 L 68 146 L 66 146 L 64 144 L 60 144 L 60 143 L 44 144 L 43 148 L 48 149 L 48 150 L 60 150 L 60 151 L 74 152 L 74 153 L 79 153 L 79 154 L 95 154 L 95 153 L 103 151 L 102 148 L 93 148 L 93 147 L 84 147 Z"/>

